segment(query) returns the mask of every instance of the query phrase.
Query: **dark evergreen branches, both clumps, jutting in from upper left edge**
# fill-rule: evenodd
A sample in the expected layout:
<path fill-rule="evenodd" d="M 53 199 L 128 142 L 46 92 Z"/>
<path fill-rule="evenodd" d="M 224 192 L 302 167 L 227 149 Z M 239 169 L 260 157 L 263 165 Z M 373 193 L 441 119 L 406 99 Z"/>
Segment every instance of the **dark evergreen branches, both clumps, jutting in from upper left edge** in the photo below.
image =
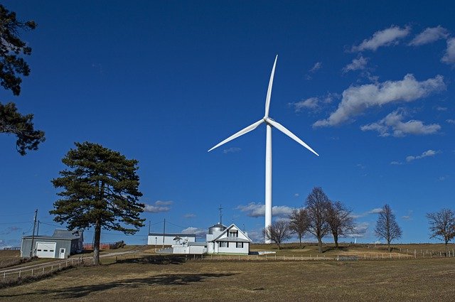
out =
<path fill-rule="evenodd" d="M 13 95 L 21 93 L 21 75 L 28 76 L 30 68 L 20 55 L 30 55 L 31 48 L 18 36 L 18 31 L 36 28 L 34 21 L 19 21 L 14 11 L 0 4 L 0 85 L 11 90 Z M 44 132 L 33 128 L 33 114 L 20 114 L 14 103 L 0 103 L 0 133 L 17 137 L 16 149 L 21 155 L 26 150 L 38 149 L 44 139 Z"/>

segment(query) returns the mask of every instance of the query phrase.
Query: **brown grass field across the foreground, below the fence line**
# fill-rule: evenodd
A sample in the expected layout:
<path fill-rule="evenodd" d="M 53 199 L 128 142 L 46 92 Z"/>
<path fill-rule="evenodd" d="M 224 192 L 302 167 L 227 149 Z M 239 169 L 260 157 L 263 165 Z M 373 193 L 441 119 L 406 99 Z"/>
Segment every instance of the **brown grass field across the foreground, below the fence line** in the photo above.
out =
<path fill-rule="evenodd" d="M 430 247 L 437 249 L 435 244 Z M 404 248 L 410 249 L 401 248 L 402 253 Z M 350 254 L 355 250 L 347 249 Z M 363 249 L 368 247 L 361 252 L 365 252 Z M 110 261 L 111 264 L 103 259 L 105 265 L 100 267 L 79 267 L 34 283 L 2 288 L 0 301 L 454 301 L 455 257 L 403 258 L 161 262 L 127 259 Z"/>

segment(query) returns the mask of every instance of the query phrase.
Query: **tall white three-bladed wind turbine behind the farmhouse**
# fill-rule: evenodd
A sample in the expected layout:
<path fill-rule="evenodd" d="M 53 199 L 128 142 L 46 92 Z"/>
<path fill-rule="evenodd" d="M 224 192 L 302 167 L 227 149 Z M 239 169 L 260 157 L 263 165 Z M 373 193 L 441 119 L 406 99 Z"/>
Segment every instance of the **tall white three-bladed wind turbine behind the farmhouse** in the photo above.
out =
<path fill-rule="evenodd" d="M 296 135 L 294 135 L 291 131 L 288 129 L 284 128 L 282 124 L 279 124 L 278 122 L 275 122 L 273 119 L 269 117 L 269 106 L 270 106 L 270 97 L 272 95 L 272 85 L 273 85 L 273 77 L 275 73 L 275 66 L 277 65 L 277 59 L 278 55 L 275 57 L 275 61 L 273 63 L 273 68 L 272 68 L 272 74 L 270 75 L 270 80 L 269 80 L 269 87 L 267 89 L 267 97 L 265 99 L 265 114 L 262 119 L 259 119 L 259 121 L 255 122 L 254 124 L 251 124 L 250 126 L 247 126 L 246 128 L 238 131 L 236 134 L 233 134 L 232 136 L 229 136 L 228 139 L 225 139 L 224 141 L 220 142 L 220 144 L 214 146 L 212 149 L 208 150 L 208 152 L 212 151 L 215 148 L 218 148 L 219 146 L 226 144 L 228 141 L 232 141 L 232 139 L 237 139 L 237 137 L 242 136 L 243 134 L 246 134 L 254 129 L 257 128 L 262 123 L 265 123 L 267 125 L 267 139 L 266 139 L 266 147 L 265 147 L 265 228 L 267 230 L 267 227 L 272 224 L 272 126 L 279 131 L 282 131 L 284 134 L 289 136 L 291 139 L 294 139 L 297 143 L 301 144 L 304 146 L 306 149 L 309 151 L 313 152 L 317 156 L 319 156 L 318 153 L 316 153 L 313 149 L 311 149 L 310 146 L 304 143 L 301 139 L 299 139 Z M 271 243 L 269 239 L 266 239 L 266 243 Z"/>

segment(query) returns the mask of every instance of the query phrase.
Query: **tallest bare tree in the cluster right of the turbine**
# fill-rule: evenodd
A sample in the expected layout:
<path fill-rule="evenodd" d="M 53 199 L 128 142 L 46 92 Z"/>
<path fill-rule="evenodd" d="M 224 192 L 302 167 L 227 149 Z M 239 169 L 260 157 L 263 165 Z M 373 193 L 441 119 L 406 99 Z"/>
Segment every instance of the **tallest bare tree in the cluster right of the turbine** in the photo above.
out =
<path fill-rule="evenodd" d="M 322 252 L 322 238 L 330 232 L 327 222 L 327 208 L 330 200 L 322 188 L 315 187 L 306 198 L 306 211 L 309 217 L 308 232 L 318 239 L 319 252 Z"/>

